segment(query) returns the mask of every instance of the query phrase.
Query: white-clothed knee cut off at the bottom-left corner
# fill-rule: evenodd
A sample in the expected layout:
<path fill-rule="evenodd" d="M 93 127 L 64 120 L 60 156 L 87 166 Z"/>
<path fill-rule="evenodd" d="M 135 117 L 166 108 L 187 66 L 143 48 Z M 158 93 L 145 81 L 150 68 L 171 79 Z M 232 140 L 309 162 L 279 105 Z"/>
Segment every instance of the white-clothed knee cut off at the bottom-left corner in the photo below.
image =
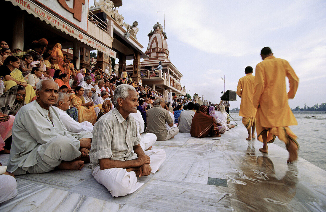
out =
<path fill-rule="evenodd" d="M 14 198 L 17 195 L 17 182 L 12 176 L 0 175 L 0 203 Z"/>

